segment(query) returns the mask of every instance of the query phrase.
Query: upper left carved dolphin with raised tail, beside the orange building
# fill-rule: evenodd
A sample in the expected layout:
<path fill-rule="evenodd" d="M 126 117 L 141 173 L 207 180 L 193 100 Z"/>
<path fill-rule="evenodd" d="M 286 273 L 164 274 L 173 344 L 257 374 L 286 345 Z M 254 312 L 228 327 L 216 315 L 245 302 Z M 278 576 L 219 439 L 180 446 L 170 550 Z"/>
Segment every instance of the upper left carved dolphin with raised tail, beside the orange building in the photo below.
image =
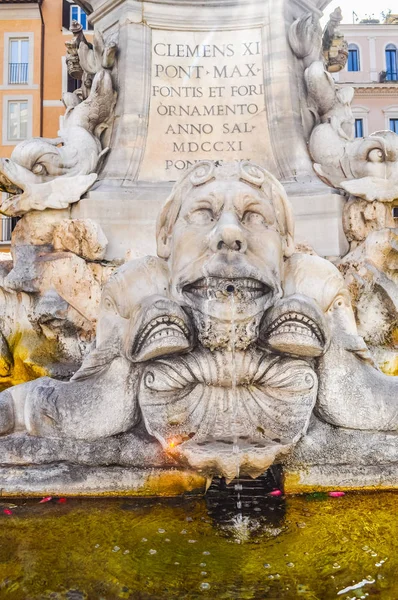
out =
<path fill-rule="evenodd" d="M 93 185 L 102 150 L 99 137 L 113 110 L 115 93 L 109 72 L 94 78 L 90 96 L 65 115 L 64 128 L 54 140 L 32 138 L 0 160 L 0 189 L 13 198 L 0 211 L 20 216 L 30 210 L 67 208 Z"/>

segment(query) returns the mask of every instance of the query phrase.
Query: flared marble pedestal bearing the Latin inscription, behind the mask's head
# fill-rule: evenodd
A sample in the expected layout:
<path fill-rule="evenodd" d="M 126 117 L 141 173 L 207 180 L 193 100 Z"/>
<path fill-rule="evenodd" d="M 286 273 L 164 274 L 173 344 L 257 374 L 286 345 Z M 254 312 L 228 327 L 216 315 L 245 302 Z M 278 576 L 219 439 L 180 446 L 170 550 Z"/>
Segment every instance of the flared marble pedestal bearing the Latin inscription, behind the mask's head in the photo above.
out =
<path fill-rule="evenodd" d="M 345 254 L 343 199 L 315 176 L 302 118 L 302 61 L 287 31 L 327 0 L 90 0 L 90 21 L 118 39 L 112 149 L 73 207 L 103 228 L 107 259 L 155 253 L 173 182 L 198 160 L 249 159 L 282 182 L 296 239 Z"/>

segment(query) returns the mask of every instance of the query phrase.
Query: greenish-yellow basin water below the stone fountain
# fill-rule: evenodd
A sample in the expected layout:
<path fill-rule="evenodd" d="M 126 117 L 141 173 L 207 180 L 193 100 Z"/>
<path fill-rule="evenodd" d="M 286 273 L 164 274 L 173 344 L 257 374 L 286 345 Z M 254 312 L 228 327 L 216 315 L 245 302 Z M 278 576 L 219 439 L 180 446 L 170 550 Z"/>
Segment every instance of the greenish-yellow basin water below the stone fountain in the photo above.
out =
<path fill-rule="evenodd" d="M 1 599 L 398 598 L 393 493 L 0 503 Z"/>

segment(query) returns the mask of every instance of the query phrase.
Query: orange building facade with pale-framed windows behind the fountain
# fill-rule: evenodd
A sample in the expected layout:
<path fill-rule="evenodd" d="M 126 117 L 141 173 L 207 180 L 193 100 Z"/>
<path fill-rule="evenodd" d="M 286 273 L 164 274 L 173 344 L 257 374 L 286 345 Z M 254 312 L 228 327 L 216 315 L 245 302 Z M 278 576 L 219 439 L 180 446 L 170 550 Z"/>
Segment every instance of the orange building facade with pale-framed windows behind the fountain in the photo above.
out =
<path fill-rule="evenodd" d="M 87 15 L 73 0 L 0 0 L 0 156 L 11 156 L 32 136 L 57 137 L 62 94 L 78 85 L 65 63 L 72 19 L 89 29 Z M 11 227 L 3 218 L 3 244 Z"/>

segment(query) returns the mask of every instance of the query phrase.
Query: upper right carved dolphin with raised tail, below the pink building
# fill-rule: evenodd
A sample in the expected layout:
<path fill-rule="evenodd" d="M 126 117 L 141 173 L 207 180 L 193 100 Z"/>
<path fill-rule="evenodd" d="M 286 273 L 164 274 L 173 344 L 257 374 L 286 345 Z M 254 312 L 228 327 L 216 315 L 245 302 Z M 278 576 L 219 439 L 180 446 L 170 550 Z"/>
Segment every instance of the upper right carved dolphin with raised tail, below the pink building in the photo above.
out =
<path fill-rule="evenodd" d="M 369 202 L 398 198 L 398 135 L 377 131 L 354 139 L 353 89 L 336 86 L 321 61 L 308 67 L 305 79 L 320 118 L 309 141 L 318 176 Z"/>

